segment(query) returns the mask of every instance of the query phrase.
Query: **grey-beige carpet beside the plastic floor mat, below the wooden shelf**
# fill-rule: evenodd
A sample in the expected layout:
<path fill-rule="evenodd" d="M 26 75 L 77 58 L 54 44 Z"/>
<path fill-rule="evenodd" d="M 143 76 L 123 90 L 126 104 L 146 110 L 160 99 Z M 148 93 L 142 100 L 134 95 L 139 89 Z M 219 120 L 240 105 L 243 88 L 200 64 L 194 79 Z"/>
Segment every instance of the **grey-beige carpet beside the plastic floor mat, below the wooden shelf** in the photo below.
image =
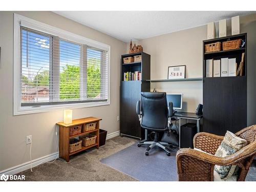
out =
<path fill-rule="evenodd" d="M 136 181 L 118 170 L 100 162 L 124 148 L 134 144 L 137 140 L 126 137 L 114 137 L 99 147 L 79 153 L 71 157 L 70 162 L 57 159 L 54 163 L 44 163 L 30 170 L 19 173 L 25 175 L 26 181 Z M 19 175 L 18 174 L 18 175 Z"/>

